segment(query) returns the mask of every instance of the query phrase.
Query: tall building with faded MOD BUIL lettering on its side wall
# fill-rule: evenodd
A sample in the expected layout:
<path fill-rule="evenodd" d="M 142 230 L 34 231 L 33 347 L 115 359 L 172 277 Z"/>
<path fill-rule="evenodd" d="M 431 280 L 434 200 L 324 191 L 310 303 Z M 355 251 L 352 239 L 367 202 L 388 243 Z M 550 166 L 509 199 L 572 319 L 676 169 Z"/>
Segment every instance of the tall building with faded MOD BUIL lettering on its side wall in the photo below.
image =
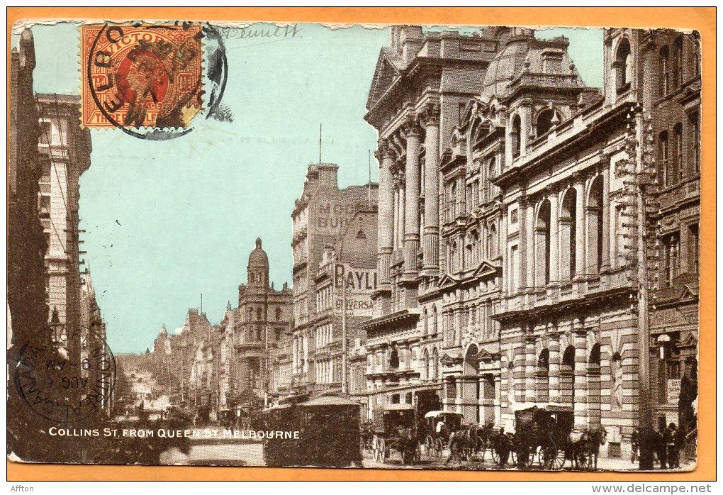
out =
<path fill-rule="evenodd" d="M 322 320 L 330 315 L 330 309 L 320 310 L 317 307 L 317 297 L 321 296 L 317 290 L 317 275 L 326 247 L 338 244 L 339 261 L 351 263 L 352 266 L 358 258 L 363 261 L 369 250 L 373 252 L 376 249 L 369 244 L 372 232 L 368 226 L 361 230 L 351 226 L 355 216 L 360 219 L 358 215 L 362 214 L 370 218 L 369 215 L 374 214 L 372 210 L 377 201 L 377 185 L 339 189 L 337 171 L 338 166 L 335 164 L 309 165 L 304 190 L 291 212 L 293 226 L 291 248 L 294 258 L 294 336 L 291 364 L 294 395 L 309 394 L 318 389 L 317 376 L 325 377 L 320 378 L 325 384 L 321 386 L 322 389 L 327 388 L 329 384 L 339 384 L 341 381 L 339 378 L 341 368 L 335 364 L 341 359 L 338 352 L 334 351 L 333 356 L 325 355 L 323 358 L 321 354 L 316 355 L 317 338 L 322 339 L 322 335 L 327 336 L 323 339 L 328 341 L 325 340 L 325 344 L 320 343 L 320 347 L 327 344 L 335 346 L 332 341 L 341 338 L 338 326 L 334 326 L 329 321 L 322 323 Z M 359 232 L 362 232 L 367 239 L 357 240 L 356 235 Z M 343 246 L 340 242 L 342 238 Z M 349 238 L 351 239 L 347 240 Z M 325 299 L 327 302 L 330 300 Z M 323 325 L 322 329 L 319 328 L 320 324 Z M 327 351 L 320 350 L 320 352 Z M 325 369 L 317 368 L 317 358 L 325 363 L 321 365 L 325 366 Z M 334 368 L 335 366 L 337 368 Z M 337 371 L 334 371 L 335 369 Z"/>

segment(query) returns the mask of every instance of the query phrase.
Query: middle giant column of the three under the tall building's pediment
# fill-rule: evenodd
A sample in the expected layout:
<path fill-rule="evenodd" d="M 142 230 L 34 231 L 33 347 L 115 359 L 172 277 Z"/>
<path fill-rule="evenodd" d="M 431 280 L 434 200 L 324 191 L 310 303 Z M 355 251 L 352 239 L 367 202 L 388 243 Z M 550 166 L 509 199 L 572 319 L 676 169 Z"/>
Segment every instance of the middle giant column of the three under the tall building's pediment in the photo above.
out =
<path fill-rule="evenodd" d="M 416 276 L 416 255 L 419 252 L 419 146 L 422 128 L 416 119 L 405 124 L 406 166 L 404 190 L 404 274 Z"/>

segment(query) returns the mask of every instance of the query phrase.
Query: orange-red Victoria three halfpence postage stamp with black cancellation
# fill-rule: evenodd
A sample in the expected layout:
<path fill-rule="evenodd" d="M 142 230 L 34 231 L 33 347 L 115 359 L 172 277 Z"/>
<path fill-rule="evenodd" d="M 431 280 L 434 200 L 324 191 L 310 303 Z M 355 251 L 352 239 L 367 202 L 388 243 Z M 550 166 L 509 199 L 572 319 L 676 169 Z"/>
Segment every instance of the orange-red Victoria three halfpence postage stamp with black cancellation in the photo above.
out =
<path fill-rule="evenodd" d="M 187 127 L 202 109 L 200 25 L 81 27 L 84 127 Z"/>

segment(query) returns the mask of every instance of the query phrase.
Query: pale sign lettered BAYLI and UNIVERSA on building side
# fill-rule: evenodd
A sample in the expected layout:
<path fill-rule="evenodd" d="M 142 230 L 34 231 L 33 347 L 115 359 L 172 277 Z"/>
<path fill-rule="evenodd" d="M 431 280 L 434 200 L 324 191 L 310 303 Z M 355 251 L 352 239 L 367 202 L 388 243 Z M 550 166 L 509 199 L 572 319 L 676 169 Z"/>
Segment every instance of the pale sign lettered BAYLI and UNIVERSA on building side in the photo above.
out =
<path fill-rule="evenodd" d="M 346 284 L 346 297 L 344 285 Z M 353 268 L 347 263 L 334 265 L 335 312 L 341 313 L 346 298 L 346 316 L 372 316 L 372 292 L 377 289 L 374 268 Z"/>

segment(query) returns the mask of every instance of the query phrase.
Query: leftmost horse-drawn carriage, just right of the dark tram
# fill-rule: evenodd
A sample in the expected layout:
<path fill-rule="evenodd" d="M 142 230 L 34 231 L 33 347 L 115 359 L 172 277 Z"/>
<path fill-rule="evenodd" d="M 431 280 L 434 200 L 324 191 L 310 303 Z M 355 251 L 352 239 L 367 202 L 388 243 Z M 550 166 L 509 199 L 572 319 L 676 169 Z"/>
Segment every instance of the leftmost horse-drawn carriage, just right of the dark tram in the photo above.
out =
<path fill-rule="evenodd" d="M 411 404 L 389 404 L 374 410 L 372 454 L 376 462 L 388 462 L 392 451 L 403 464 L 419 460 L 416 410 Z"/>

